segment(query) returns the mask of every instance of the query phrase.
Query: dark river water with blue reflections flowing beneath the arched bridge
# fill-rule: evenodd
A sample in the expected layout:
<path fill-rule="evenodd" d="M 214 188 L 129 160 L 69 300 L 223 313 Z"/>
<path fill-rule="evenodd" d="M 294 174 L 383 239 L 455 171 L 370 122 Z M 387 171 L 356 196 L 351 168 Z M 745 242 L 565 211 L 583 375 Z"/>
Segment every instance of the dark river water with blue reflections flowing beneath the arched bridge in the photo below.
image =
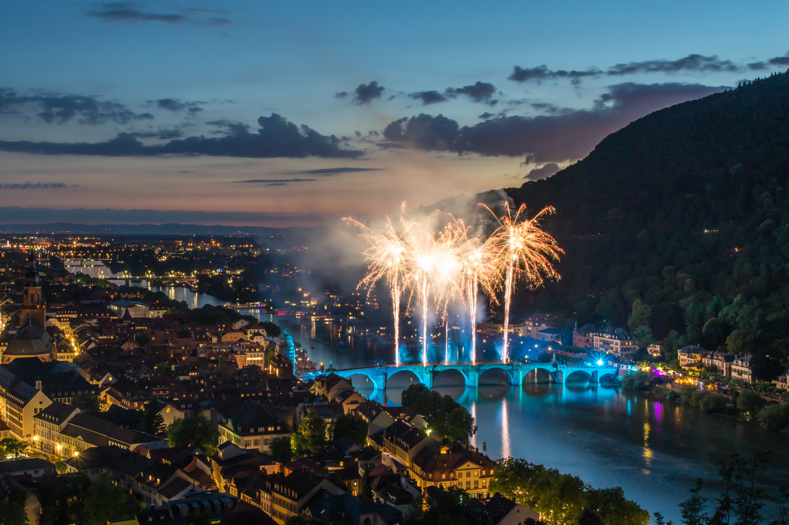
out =
<path fill-rule="evenodd" d="M 190 298 L 193 292 L 180 290 L 190 306 L 207 300 Z M 391 347 L 353 337 L 353 326 L 301 325 L 263 311 L 242 313 L 286 327 L 316 362 L 331 359 L 344 368 L 394 360 Z M 364 376 L 354 376 L 353 384 L 373 399 L 396 405 L 402 389 L 414 380 L 408 373 L 397 374 L 385 393 L 372 389 Z M 492 459 L 522 457 L 577 475 L 596 487 L 621 486 L 626 497 L 675 523 L 679 523 L 677 505 L 688 497 L 696 478 L 705 479 L 712 488 L 720 460 L 732 452 L 747 456 L 757 449 L 774 451 L 761 481 L 768 488 L 789 485 L 786 435 L 768 433 L 753 423 L 586 382 L 517 387 L 492 371 L 483 374 L 483 383 L 477 389 L 466 388 L 459 374 L 450 372 L 435 380 L 439 393 L 454 397 L 477 419 L 473 444 L 480 451 L 485 446 Z M 707 495 L 715 496 L 712 491 Z"/>

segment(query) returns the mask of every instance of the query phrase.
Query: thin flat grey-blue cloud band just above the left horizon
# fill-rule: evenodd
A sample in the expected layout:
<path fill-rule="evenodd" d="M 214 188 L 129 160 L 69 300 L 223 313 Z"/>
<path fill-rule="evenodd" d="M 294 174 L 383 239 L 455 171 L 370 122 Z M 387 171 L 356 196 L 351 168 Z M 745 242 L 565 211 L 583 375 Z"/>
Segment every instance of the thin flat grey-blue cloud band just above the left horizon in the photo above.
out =
<path fill-rule="evenodd" d="M 58 210 L 54 208 L 0 207 L 3 224 L 216 224 L 216 222 L 275 222 L 288 218 L 316 219 L 317 214 L 267 214 L 255 211 L 118 210 L 114 208 Z"/>

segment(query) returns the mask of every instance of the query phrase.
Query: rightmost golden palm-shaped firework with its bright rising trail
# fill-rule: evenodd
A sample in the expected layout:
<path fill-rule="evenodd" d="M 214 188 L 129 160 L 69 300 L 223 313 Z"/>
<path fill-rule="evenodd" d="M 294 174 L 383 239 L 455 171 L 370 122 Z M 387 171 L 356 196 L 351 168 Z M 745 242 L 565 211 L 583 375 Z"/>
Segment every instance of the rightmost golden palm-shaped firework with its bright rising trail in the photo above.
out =
<path fill-rule="evenodd" d="M 510 335 L 510 303 L 512 292 L 517 281 L 525 281 L 526 287 L 535 289 L 542 285 L 544 277 L 559 279 L 552 265 L 563 254 L 556 240 L 540 229 L 540 220 L 554 213 L 549 206 L 540 210 L 533 218 L 526 218 L 526 205 L 522 204 L 514 214 L 509 203 L 504 203 L 505 214 L 496 216 L 486 208 L 499 222 L 499 228 L 488 237 L 483 251 L 492 259 L 498 270 L 497 285 L 504 290 L 504 344 L 502 360 L 507 362 L 509 353 L 507 344 Z M 544 276 L 544 277 L 543 277 Z M 495 298 L 495 294 L 492 296 Z"/>

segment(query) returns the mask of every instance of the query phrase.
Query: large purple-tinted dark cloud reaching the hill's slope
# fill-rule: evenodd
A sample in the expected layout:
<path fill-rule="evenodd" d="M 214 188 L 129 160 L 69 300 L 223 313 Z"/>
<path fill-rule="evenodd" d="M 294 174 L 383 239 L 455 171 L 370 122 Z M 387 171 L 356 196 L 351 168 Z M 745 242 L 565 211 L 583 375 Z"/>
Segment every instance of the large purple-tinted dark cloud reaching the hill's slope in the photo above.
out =
<path fill-rule="evenodd" d="M 563 162 L 584 157 L 604 136 L 645 114 L 724 89 L 700 84 L 616 84 L 589 110 L 496 117 L 463 127 L 440 114 L 420 114 L 387 125 L 383 132 L 387 142 L 379 145 Z"/>

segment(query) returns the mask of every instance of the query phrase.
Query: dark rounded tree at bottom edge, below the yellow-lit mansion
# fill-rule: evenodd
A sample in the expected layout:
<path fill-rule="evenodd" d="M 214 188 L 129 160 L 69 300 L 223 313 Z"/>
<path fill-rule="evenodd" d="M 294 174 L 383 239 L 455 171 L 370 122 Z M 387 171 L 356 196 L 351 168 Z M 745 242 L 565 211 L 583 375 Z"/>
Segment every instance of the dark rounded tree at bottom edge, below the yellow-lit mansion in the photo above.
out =
<path fill-rule="evenodd" d="M 424 503 L 414 501 L 406 525 L 479 525 L 481 514 L 473 498 L 462 489 L 429 487 Z"/>

